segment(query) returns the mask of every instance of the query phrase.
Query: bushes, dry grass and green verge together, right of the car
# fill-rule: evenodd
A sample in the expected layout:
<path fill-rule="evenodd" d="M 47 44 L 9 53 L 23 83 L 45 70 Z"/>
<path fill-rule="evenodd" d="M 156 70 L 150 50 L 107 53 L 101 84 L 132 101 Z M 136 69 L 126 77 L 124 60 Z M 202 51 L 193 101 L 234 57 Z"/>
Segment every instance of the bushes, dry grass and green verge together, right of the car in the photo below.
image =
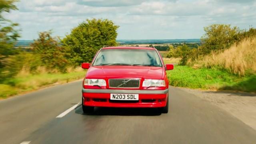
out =
<path fill-rule="evenodd" d="M 170 48 L 167 57 L 181 58 L 168 72 L 170 84 L 256 92 L 256 29 L 213 24 L 204 30 L 198 48 Z"/>

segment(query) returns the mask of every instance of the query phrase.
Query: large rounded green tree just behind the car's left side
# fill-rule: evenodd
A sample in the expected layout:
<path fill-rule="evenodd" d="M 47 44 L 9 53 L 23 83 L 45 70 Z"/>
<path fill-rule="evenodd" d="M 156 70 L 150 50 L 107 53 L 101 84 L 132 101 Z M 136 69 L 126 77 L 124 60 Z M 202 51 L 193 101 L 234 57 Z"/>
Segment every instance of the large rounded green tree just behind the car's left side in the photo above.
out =
<path fill-rule="evenodd" d="M 111 20 L 87 19 L 72 29 L 62 40 L 62 44 L 71 50 L 70 60 L 77 65 L 90 62 L 100 48 L 117 45 L 118 27 Z"/>

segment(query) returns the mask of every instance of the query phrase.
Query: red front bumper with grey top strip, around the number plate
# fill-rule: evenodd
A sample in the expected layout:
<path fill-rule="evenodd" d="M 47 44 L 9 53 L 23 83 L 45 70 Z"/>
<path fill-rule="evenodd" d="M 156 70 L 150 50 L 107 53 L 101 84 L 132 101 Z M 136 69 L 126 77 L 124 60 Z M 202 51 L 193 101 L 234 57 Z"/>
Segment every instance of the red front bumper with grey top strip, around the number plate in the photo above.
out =
<path fill-rule="evenodd" d="M 159 108 L 166 106 L 166 90 L 82 89 L 84 106 L 121 108 Z M 138 101 L 110 100 L 110 94 L 139 94 Z"/>

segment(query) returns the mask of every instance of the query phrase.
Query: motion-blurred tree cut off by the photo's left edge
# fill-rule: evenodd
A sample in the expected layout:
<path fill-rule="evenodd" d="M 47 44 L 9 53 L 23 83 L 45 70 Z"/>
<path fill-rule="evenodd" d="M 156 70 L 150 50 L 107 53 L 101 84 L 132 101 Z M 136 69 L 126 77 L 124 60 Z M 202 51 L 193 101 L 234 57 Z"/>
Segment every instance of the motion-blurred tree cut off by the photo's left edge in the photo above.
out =
<path fill-rule="evenodd" d="M 14 2 L 17 2 L 17 0 L 0 0 L 0 79 L 11 76 L 8 74 L 9 70 L 6 70 L 5 67 L 8 64 L 8 57 L 17 53 L 14 44 L 16 44 L 19 37 L 18 30 L 16 30 L 18 24 L 7 20 L 3 16 L 3 12 L 17 10 Z"/>

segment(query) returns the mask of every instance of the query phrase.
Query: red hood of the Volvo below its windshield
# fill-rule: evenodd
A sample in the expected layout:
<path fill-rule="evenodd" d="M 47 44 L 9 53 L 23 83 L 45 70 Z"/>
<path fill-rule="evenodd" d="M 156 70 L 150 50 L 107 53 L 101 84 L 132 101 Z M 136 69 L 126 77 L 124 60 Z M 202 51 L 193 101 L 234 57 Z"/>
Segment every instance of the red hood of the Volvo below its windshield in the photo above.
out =
<path fill-rule="evenodd" d="M 164 68 L 154 66 L 91 66 L 86 78 L 162 79 Z"/>

